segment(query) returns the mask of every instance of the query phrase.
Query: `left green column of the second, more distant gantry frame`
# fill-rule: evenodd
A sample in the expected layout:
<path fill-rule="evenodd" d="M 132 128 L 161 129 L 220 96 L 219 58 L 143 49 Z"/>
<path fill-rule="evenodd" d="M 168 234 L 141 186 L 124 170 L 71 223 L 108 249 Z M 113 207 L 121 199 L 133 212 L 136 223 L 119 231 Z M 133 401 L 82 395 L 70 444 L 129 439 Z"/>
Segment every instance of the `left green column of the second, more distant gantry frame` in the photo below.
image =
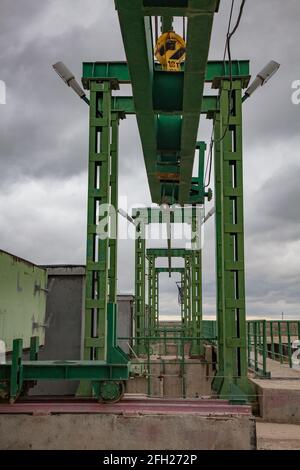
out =
<path fill-rule="evenodd" d="M 146 240 L 142 223 L 135 239 L 135 337 L 145 338 L 146 328 Z M 136 353 L 145 354 L 145 340 L 136 340 Z"/>

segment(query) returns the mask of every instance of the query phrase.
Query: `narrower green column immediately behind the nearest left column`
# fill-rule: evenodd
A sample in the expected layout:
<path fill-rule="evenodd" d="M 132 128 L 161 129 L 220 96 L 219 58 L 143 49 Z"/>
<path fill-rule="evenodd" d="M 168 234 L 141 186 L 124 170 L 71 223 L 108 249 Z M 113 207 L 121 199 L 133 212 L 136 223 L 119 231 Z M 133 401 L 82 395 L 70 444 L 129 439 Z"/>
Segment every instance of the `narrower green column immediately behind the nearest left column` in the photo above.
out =
<path fill-rule="evenodd" d="M 109 240 L 109 302 L 117 302 L 117 250 L 118 250 L 118 163 L 119 163 L 119 115 L 112 114 L 111 121 L 111 206 L 113 230 Z"/>

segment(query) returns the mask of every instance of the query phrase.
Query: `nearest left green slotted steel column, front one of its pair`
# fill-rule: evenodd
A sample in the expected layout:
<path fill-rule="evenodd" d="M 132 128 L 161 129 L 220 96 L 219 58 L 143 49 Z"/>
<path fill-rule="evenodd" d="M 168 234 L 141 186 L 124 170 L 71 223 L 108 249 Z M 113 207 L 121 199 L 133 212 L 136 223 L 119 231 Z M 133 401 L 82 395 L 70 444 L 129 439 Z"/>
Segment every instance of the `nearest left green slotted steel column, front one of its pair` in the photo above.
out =
<path fill-rule="evenodd" d="M 102 103 L 99 117 L 98 102 Z M 100 145 L 99 145 L 100 137 Z M 108 301 L 108 236 L 97 236 L 97 220 L 102 204 L 110 202 L 111 155 L 111 89 L 110 82 L 90 83 L 90 134 L 88 176 L 88 220 L 84 359 L 106 359 Z"/>

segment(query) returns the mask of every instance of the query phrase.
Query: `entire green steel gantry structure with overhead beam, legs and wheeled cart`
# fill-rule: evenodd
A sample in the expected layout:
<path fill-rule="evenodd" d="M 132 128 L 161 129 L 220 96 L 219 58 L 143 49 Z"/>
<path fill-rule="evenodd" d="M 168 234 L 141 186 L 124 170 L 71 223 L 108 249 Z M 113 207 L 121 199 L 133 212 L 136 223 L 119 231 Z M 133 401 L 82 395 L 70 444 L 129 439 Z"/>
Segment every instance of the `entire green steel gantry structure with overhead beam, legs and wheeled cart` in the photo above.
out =
<path fill-rule="evenodd" d="M 37 344 L 31 361 L 22 361 L 22 342 L 15 340 L 11 362 L 0 366 L 2 395 L 14 401 L 24 384 L 41 379 L 79 379 L 92 382 L 94 394 L 105 401 L 122 397 L 130 374 L 128 357 L 116 345 L 117 240 L 103 237 L 101 207 L 117 207 L 118 131 L 120 120 L 135 114 L 143 148 L 152 202 L 203 206 L 205 143 L 198 143 L 201 115 L 213 121 L 218 370 L 214 389 L 220 398 L 246 401 L 247 347 L 244 277 L 242 89 L 249 82 L 248 61 L 208 61 L 213 19 L 219 0 L 115 0 L 127 62 L 83 64 L 84 87 L 90 93 L 89 180 L 84 360 L 42 362 Z M 182 18 L 186 48 L 176 72 L 155 60 L 161 33 L 173 31 L 173 19 Z M 167 43 L 166 43 L 167 44 Z M 172 41 L 166 45 L 174 46 Z M 177 52 L 174 46 L 174 54 Z M 166 51 L 165 51 L 166 52 Z M 164 51 L 160 53 L 163 55 Z M 179 57 L 178 56 L 178 57 Z M 173 57 L 174 59 L 174 57 Z M 219 94 L 204 95 L 211 83 Z M 132 96 L 116 96 L 122 84 L 132 85 Z M 195 152 L 199 172 L 193 177 Z M 147 218 L 147 217 L 146 217 Z M 145 222 L 149 223 L 148 219 Z M 193 220 L 191 221 L 194 224 Z M 115 228 L 114 228 L 115 229 Z M 158 325 L 158 274 L 155 259 L 182 256 L 185 306 L 183 319 L 201 353 L 201 249 L 180 253 L 146 250 L 143 224 L 136 224 L 136 336 L 143 350 L 146 328 Z M 150 313 L 145 308 L 146 256 L 150 261 Z M 168 272 L 172 272 L 169 262 Z"/>

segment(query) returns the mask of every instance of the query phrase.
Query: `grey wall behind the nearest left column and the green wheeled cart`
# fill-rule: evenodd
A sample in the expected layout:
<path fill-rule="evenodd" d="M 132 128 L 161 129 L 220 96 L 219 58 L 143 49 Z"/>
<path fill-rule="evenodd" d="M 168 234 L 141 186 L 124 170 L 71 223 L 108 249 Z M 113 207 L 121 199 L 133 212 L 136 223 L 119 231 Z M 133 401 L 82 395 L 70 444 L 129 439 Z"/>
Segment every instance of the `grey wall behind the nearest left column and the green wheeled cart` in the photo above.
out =
<path fill-rule="evenodd" d="M 81 359 L 85 301 L 84 266 L 44 266 L 51 290 L 47 296 L 45 346 L 41 360 Z M 118 296 L 118 336 L 132 336 L 133 296 Z M 119 342 L 129 352 L 128 341 Z M 30 394 L 73 395 L 77 382 L 40 381 Z"/>

